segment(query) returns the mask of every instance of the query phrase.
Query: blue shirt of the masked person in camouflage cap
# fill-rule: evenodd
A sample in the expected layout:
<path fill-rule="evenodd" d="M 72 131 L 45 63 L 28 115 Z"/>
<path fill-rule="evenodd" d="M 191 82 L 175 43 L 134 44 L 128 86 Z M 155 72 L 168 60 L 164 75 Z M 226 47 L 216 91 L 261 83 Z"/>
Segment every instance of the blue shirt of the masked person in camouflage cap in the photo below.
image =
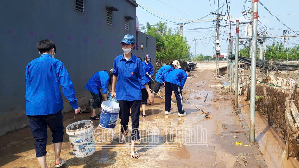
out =
<path fill-rule="evenodd" d="M 124 54 L 113 61 L 113 74 L 117 76 L 116 99 L 124 101 L 141 100 L 141 86 L 148 84 L 140 59 L 132 54 L 127 61 Z M 140 82 L 139 82 L 140 80 Z"/>

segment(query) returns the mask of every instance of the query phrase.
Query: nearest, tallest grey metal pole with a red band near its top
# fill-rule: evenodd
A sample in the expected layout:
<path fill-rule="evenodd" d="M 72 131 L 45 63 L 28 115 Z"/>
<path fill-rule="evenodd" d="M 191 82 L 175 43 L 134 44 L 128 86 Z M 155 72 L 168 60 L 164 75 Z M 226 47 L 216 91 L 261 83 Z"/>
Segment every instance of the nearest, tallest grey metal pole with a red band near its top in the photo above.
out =
<path fill-rule="evenodd" d="M 251 83 L 250 83 L 250 142 L 255 142 L 255 83 L 256 83 L 256 49 L 258 32 L 258 2 L 253 4 L 253 29 L 252 29 L 252 58 L 251 58 Z"/>

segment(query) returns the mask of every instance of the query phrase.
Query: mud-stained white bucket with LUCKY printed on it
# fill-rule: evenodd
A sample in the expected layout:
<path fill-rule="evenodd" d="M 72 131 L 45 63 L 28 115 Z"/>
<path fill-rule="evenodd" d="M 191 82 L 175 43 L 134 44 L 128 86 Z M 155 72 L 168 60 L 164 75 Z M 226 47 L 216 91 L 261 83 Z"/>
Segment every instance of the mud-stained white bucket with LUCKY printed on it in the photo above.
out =
<path fill-rule="evenodd" d="M 69 124 L 65 129 L 75 157 L 87 157 L 96 151 L 91 120 Z"/>

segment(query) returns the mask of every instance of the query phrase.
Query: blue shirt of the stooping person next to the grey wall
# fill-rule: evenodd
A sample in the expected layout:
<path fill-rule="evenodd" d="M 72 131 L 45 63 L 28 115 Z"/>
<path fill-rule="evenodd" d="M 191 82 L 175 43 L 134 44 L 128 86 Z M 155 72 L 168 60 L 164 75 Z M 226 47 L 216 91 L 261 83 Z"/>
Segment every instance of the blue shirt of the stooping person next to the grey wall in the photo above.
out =
<path fill-rule="evenodd" d="M 109 82 L 109 72 L 107 71 L 99 71 L 96 72 L 86 83 L 85 89 L 93 92 L 94 94 L 99 94 L 100 89 L 103 88 L 102 93 L 107 94 L 107 86 Z"/>

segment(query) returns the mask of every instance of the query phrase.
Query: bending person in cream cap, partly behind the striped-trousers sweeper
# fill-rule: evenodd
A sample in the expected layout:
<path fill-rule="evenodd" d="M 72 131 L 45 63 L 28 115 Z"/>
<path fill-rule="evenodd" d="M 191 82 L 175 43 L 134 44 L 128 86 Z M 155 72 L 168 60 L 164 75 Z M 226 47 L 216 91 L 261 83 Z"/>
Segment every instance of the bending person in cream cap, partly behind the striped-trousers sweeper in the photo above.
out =
<path fill-rule="evenodd" d="M 179 69 L 181 68 L 180 66 L 180 62 L 178 62 L 177 60 L 173 61 L 172 63 L 170 63 L 169 65 L 164 65 L 163 67 L 161 67 L 159 69 L 159 71 L 156 73 L 156 86 L 155 86 L 155 93 L 158 93 L 158 91 L 160 90 L 162 84 L 163 84 L 163 80 L 164 80 L 164 75 L 167 72 L 172 71 L 173 69 Z M 156 96 L 156 94 L 154 93 L 154 97 Z"/>

